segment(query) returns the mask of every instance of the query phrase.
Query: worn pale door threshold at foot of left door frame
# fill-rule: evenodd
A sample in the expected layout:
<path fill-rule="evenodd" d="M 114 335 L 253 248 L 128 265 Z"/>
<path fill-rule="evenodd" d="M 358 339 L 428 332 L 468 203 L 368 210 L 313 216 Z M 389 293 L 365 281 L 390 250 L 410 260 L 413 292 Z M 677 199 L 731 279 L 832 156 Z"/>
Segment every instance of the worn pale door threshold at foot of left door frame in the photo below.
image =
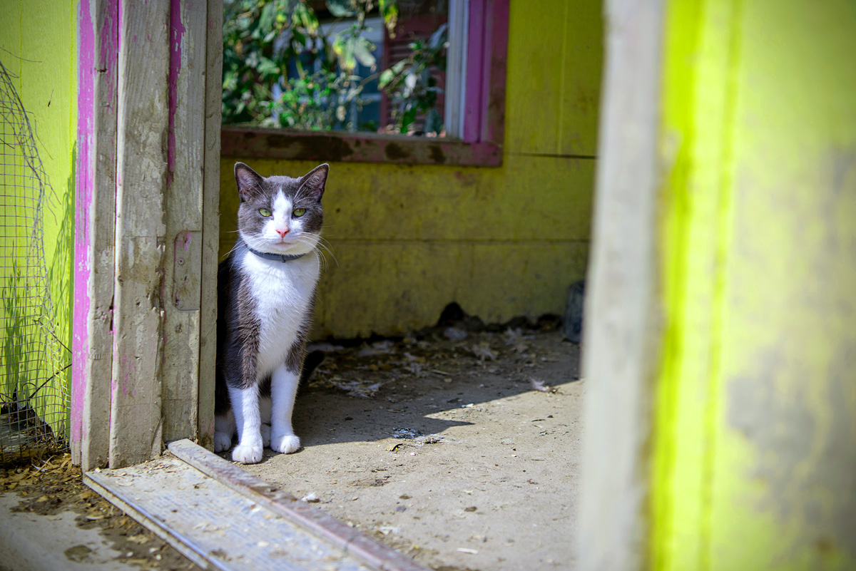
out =
<path fill-rule="evenodd" d="M 169 451 L 84 483 L 202 568 L 426 571 L 189 440 Z"/>

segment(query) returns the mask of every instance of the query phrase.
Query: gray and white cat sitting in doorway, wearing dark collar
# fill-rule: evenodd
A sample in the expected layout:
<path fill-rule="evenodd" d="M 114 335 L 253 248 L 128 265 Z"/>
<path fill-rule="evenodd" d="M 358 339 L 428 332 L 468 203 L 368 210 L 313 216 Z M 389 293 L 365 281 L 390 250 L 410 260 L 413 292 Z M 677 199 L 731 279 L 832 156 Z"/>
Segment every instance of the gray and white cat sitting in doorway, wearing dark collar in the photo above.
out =
<path fill-rule="evenodd" d="M 294 397 L 320 275 L 321 197 L 330 167 L 299 179 L 259 176 L 235 164 L 238 239 L 217 271 L 217 393 L 214 450 L 259 462 L 264 446 L 300 448 Z M 270 423 L 270 424 L 268 424 Z"/>

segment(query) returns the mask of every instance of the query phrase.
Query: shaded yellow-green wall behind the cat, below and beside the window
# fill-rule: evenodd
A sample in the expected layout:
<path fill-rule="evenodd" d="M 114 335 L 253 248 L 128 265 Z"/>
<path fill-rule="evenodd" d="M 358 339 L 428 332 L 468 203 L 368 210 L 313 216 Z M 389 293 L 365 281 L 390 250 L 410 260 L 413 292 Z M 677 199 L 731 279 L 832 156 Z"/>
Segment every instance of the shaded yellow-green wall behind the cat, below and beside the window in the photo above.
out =
<path fill-rule="evenodd" d="M 330 165 L 316 337 L 404 333 L 453 301 L 484 321 L 562 313 L 586 272 L 602 26 L 594 0 L 511 3 L 502 167 Z M 264 175 L 316 166 L 223 157 L 221 255 L 236 160 Z"/>

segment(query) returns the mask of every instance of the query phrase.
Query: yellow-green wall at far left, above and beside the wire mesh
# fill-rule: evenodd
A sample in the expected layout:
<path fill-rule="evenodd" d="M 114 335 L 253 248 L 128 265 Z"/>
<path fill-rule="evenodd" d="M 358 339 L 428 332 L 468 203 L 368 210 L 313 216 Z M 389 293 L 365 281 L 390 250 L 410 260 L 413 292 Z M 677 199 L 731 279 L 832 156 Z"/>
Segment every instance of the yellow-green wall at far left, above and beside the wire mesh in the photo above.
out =
<path fill-rule="evenodd" d="M 45 262 L 56 335 L 66 347 L 71 346 L 76 6 L 73 0 L 0 0 L 0 62 L 17 76 L 12 82 L 27 109 L 50 185 L 43 212 Z"/>

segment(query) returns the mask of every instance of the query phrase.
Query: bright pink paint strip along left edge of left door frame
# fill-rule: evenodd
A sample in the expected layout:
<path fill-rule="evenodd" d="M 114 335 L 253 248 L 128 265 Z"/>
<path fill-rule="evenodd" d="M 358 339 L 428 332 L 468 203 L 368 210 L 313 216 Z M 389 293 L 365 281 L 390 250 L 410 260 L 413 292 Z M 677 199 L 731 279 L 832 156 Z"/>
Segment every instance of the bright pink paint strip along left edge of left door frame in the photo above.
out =
<path fill-rule="evenodd" d="M 89 359 L 89 280 L 92 272 L 92 197 L 95 188 L 95 31 L 89 0 L 80 0 L 77 62 L 77 164 L 74 166 L 74 314 L 72 316 L 71 439 L 83 437 Z"/>

